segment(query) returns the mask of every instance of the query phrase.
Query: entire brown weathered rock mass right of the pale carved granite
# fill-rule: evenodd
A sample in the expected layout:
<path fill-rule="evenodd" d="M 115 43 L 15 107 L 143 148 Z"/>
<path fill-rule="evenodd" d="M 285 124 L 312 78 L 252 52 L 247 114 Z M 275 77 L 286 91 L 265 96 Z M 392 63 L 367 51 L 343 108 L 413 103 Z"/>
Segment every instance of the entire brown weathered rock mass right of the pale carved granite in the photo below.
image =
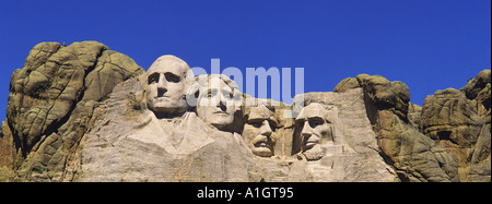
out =
<path fill-rule="evenodd" d="M 378 146 L 402 181 L 487 181 L 490 77 L 484 70 L 460 91 L 437 91 L 423 107 L 409 103 L 405 84 L 382 76 L 345 79 L 335 92 L 364 88 Z"/>

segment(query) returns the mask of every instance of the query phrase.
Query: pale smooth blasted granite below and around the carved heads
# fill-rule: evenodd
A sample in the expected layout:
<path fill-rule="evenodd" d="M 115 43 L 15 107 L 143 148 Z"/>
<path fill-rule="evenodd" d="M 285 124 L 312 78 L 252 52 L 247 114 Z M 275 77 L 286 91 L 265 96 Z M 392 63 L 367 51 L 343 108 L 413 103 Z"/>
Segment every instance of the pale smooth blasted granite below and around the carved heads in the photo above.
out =
<path fill-rule="evenodd" d="M 259 157 L 241 134 L 220 131 L 195 112 L 159 120 L 152 111 L 140 108 L 144 104 L 134 106 L 140 101 L 132 96 L 138 98 L 141 92 L 139 79 L 129 80 L 117 85 L 96 109 L 101 117 L 81 142 L 78 181 L 396 180 L 393 168 L 378 154 L 361 88 L 343 94 L 305 94 L 307 103 L 323 103 L 338 115 L 333 123 L 340 142 L 328 146 L 326 155 L 315 161 L 297 158 L 298 151 L 292 148 L 295 135 L 284 134 L 292 132 L 292 121 L 279 122 L 272 135 L 276 155 Z M 176 132 L 183 133 L 178 148 L 162 136 Z M 289 152 L 282 146 L 289 146 Z"/>

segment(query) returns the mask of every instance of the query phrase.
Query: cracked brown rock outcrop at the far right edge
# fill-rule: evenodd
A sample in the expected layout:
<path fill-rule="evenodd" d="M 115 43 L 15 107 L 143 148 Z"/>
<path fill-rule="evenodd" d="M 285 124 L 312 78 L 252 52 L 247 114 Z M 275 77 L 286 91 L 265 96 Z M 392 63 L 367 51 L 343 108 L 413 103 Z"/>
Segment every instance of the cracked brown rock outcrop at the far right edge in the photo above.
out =
<path fill-rule="evenodd" d="M 453 156 L 461 180 L 490 178 L 490 70 L 461 92 L 447 88 L 427 96 L 419 128 Z"/>

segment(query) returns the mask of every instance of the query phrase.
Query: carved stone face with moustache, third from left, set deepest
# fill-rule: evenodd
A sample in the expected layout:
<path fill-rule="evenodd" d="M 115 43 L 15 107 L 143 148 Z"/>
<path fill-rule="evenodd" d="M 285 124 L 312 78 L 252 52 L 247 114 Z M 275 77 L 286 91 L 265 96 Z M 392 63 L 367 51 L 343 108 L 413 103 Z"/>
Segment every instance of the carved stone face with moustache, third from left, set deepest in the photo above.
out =
<path fill-rule="evenodd" d="M 243 129 L 243 137 L 253 154 L 261 157 L 273 155 L 274 141 L 271 139 L 271 134 L 274 127 L 273 112 L 267 107 L 249 108 L 248 119 Z"/>

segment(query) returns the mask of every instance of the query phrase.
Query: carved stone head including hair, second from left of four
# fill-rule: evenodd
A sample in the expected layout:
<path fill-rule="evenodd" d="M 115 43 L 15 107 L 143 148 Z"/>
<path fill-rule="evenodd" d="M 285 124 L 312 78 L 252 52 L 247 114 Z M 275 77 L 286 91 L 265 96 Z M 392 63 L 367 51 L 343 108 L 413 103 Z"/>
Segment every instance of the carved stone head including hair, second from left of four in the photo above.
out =
<path fill-rule="evenodd" d="M 236 112 L 241 111 L 241 92 L 226 75 L 203 74 L 196 77 L 190 88 L 197 100 L 197 115 L 222 131 L 233 132 Z"/>

